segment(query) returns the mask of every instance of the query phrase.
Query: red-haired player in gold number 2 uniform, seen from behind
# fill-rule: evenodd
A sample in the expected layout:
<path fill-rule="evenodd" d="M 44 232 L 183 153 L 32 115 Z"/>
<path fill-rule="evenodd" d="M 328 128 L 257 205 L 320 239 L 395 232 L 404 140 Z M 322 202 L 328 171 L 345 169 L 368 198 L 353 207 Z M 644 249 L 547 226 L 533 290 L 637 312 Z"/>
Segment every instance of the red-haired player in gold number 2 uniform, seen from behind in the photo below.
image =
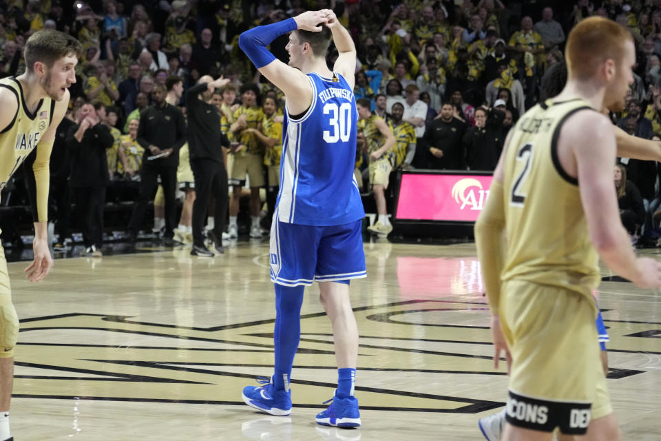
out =
<path fill-rule="evenodd" d="M 508 135 L 475 229 L 494 359 L 505 351 L 511 361 L 508 441 L 551 440 L 556 427 L 587 440 L 620 439 L 594 345 L 598 257 L 640 287 L 661 286 L 661 265 L 636 258 L 620 223 L 616 137 L 598 112 L 624 107 L 631 36 L 591 17 L 571 31 L 566 52 L 567 85 Z"/>

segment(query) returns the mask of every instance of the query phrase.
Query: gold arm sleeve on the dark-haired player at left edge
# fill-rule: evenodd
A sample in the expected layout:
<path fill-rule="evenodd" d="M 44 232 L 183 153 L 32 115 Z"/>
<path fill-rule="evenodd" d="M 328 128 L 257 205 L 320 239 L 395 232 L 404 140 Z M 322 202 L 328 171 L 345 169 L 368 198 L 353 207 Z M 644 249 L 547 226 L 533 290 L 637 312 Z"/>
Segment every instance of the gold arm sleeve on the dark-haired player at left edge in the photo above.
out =
<path fill-rule="evenodd" d="M 48 221 L 48 188 L 50 185 L 50 152 L 54 141 L 41 141 L 34 152 L 25 158 L 25 167 L 32 168 L 32 173 L 25 173 L 32 205 L 34 222 Z M 27 172 L 27 170 L 25 170 Z"/>

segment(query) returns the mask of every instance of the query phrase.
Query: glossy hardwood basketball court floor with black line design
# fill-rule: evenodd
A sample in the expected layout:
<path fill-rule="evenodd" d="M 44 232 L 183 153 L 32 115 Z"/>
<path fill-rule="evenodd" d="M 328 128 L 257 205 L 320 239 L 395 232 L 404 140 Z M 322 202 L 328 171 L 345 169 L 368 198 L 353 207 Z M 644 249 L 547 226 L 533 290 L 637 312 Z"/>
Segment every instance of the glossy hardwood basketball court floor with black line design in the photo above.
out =
<path fill-rule="evenodd" d="M 368 278 L 351 283 L 363 420 L 354 430 L 314 422 L 337 381 L 316 285 L 302 309 L 291 417 L 242 404 L 242 387 L 272 373 L 266 243 L 240 242 L 215 258 L 156 247 L 58 259 L 39 284 L 25 281 L 27 263 L 10 263 L 21 318 L 14 438 L 483 440 L 477 420 L 502 409 L 507 377 L 504 362 L 493 368 L 474 245 L 365 249 Z M 659 440 L 661 298 L 602 276 L 613 408 L 625 440 Z"/>

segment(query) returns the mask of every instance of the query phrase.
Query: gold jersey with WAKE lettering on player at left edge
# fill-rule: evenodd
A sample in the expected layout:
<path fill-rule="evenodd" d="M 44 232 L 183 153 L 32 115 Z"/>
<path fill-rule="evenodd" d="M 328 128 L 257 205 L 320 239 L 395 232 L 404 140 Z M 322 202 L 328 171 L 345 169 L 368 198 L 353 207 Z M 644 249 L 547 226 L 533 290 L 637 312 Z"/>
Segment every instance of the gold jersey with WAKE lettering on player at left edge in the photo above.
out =
<path fill-rule="evenodd" d="M 21 83 L 14 77 L 0 79 L 0 88 L 11 90 L 19 103 L 14 119 L 7 127 L 0 127 L 0 189 L 14 174 L 25 157 L 34 150 L 53 119 L 55 101 L 42 99 L 34 113 L 25 104 Z"/>

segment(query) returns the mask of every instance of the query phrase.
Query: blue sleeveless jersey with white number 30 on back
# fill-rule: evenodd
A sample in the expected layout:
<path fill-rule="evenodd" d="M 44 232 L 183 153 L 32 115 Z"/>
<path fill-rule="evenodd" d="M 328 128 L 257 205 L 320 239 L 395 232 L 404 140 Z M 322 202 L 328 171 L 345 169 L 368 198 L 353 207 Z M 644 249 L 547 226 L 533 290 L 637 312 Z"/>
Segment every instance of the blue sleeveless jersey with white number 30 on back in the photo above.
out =
<path fill-rule="evenodd" d="M 353 174 L 358 113 L 353 90 L 339 74 L 307 74 L 313 87 L 308 110 L 283 128 L 276 216 L 300 225 L 344 225 L 364 218 Z"/>

